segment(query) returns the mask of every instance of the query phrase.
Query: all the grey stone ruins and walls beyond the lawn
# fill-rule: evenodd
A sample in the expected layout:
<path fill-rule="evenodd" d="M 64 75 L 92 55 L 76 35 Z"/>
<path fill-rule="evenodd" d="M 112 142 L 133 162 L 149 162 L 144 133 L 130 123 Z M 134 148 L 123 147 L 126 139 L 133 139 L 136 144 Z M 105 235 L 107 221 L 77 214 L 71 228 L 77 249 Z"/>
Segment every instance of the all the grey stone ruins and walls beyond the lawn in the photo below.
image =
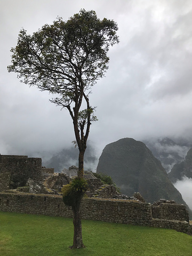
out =
<path fill-rule="evenodd" d="M 139 193 L 118 194 L 114 186 L 103 185 L 91 173 L 85 178 L 89 191 L 81 204 L 83 219 L 171 228 L 192 235 L 185 205 L 165 199 L 146 203 Z M 70 179 L 66 173 L 42 167 L 41 158 L 0 155 L 0 211 L 73 218 L 59 193 Z"/>

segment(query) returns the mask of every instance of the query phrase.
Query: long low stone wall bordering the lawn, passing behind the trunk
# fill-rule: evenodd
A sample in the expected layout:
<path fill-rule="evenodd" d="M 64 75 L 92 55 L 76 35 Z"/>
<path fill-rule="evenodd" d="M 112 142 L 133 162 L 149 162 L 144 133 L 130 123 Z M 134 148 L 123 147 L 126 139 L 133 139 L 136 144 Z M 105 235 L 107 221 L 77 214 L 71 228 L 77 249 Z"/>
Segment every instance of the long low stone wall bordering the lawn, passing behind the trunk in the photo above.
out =
<path fill-rule="evenodd" d="M 171 228 L 192 235 L 192 226 L 187 221 L 154 219 L 150 203 L 84 198 L 81 207 L 82 219 Z M 73 217 L 71 207 L 57 195 L 0 193 L 0 211 Z"/>

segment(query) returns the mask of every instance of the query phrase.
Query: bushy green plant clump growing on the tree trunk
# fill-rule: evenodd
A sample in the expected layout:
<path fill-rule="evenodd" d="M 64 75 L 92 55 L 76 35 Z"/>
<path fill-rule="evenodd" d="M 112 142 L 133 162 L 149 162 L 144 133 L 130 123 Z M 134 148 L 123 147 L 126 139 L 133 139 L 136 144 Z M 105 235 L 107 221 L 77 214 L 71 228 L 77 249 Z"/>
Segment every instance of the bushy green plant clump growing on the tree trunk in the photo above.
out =
<path fill-rule="evenodd" d="M 62 187 L 63 202 L 68 206 L 73 206 L 83 197 L 87 190 L 85 179 L 75 178 L 69 184 Z"/>

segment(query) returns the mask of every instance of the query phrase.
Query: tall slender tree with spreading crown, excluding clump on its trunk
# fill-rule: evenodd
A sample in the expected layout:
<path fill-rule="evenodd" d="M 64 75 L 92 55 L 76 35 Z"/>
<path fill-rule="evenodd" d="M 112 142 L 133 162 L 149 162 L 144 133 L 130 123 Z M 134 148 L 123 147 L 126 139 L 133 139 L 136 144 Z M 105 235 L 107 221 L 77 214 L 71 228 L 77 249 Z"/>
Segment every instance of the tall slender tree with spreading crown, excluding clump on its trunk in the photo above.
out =
<path fill-rule="evenodd" d="M 17 73 L 21 82 L 29 86 L 56 94 L 51 102 L 68 109 L 79 149 L 78 179 L 83 178 L 90 125 L 97 120 L 95 107 L 89 102 L 90 90 L 108 69 L 107 52 L 109 46 L 118 43 L 117 30 L 113 20 L 100 20 L 94 11 L 83 9 L 68 21 L 58 18 L 52 25 L 44 25 L 33 35 L 21 29 L 17 46 L 11 49 L 12 65 L 8 71 Z M 81 201 L 82 196 L 78 198 Z M 72 205 L 74 219 L 79 218 L 79 205 Z M 83 247 L 80 221 L 76 219 L 74 223 L 72 247 Z"/>

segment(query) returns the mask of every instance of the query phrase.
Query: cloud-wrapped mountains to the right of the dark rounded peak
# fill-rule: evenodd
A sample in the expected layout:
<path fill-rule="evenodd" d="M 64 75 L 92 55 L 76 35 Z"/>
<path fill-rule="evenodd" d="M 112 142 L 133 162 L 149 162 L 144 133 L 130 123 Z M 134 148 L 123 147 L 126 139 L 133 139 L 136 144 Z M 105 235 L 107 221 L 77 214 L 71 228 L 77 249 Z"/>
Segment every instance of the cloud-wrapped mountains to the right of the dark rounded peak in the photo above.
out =
<path fill-rule="evenodd" d="M 168 173 L 169 179 L 192 209 L 192 140 L 190 137 L 156 138 L 145 141 Z"/>

